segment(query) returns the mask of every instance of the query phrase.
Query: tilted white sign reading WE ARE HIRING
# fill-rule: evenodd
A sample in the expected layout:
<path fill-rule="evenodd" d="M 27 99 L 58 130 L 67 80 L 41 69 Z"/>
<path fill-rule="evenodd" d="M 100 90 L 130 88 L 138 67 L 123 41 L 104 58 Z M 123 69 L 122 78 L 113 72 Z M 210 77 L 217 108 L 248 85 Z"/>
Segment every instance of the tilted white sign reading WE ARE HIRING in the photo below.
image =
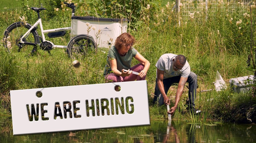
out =
<path fill-rule="evenodd" d="M 146 80 L 12 90 L 10 97 L 14 135 L 150 124 Z"/>

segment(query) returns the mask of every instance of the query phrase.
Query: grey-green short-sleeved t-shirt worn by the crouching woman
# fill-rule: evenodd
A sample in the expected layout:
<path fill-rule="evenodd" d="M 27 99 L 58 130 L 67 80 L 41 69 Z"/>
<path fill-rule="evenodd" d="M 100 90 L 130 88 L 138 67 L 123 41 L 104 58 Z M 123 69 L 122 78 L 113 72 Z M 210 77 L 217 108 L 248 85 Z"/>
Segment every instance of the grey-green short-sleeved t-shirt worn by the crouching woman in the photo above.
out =
<path fill-rule="evenodd" d="M 133 47 L 126 53 L 125 56 L 121 56 L 115 46 L 112 46 L 109 49 L 109 53 L 107 56 L 107 64 L 105 65 L 104 69 L 104 76 L 109 74 L 111 71 L 110 63 L 109 63 L 109 58 L 116 59 L 116 66 L 117 69 L 122 72 L 122 69 L 130 69 L 131 68 L 131 62 L 132 62 L 132 57 L 134 57 L 137 54 L 137 50 L 135 50 Z"/>

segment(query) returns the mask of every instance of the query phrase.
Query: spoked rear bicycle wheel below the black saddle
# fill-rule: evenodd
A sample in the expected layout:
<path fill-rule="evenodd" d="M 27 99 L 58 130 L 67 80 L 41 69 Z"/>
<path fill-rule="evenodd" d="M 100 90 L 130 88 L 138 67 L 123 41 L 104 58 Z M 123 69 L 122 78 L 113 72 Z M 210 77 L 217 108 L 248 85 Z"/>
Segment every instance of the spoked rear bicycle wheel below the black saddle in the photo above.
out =
<path fill-rule="evenodd" d="M 20 43 L 20 38 L 31 28 L 30 25 L 26 25 L 25 23 L 15 23 L 9 26 L 4 34 L 4 47 L 9 53 L 16 53 L 28 55 L 32 51 L 36 51 L 36 46 L 34 45 L 26 45 Z M 32 30 L 25 36 L 22 41 L 37 43 L 37 32 Z"/>

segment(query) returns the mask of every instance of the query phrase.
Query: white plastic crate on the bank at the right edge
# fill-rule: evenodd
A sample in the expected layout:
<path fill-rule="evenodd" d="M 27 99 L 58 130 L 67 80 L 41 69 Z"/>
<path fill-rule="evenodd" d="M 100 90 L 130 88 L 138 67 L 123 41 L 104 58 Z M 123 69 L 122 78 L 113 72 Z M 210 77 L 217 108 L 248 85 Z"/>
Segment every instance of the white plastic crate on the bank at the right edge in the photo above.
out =
<path fill-rule="evenodd" d="M 251 84 L 253 83 L 253 75 L 238 77 L 238 78 L 231 78 L 229 80 L 230 87 L 237 93 L 244 93 L 251 88 Z M 250 80 L 249 83 L 245 81 Z"/>

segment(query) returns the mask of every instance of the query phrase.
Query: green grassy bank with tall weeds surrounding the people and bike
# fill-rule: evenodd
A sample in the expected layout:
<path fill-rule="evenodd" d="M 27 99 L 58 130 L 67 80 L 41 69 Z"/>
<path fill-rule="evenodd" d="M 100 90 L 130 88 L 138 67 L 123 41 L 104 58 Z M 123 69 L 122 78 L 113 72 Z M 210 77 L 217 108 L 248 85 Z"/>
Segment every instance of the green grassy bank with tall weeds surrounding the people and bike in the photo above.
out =
<path fill-rule="evenodd" d="M 183 54 L 187 57 L 191 71 L 198 75 L 199 88 L 197 89 L 196 108 L 203 111 L 197 117 L 187 113 L 184 104 L 188 96 L 188 89 L 185 88 L 179 109 L 176 110 L 173 119 L 193 122 L 206 120 L 246 122 L 248 115 L 251 115 L 250 119 L 255 118 L 256 99 L 250 93 L 237 94 L 230 89 L 220 92 L 199 92 L 214 88 L 212 82 L 215 81 L 217 70 L 228 87 L 230 78 L 253 74 L 251 70 L 248 70 L 246 63 L 250 51 L 250 19 L 243 16 L 245 12 L 239 10 L 235 13 L 219 11 L 217 14 L 213 14 L 209 10 L 208 20 L 204 20 L 205 13 L 195 13 L 194 18 L 181 20 L 181 25 L 178 26 L 177 17 L 180 16 L 180 13 L 172 11 L 172 4 L 169 4 L 168 7 L 165 4 L 162 6 L 161 3 L 156 4 L 159 11 L 156 9 L 152 17 L 150 17 L 151 15 L 146 17 L 149 11 L 145 10 L 142 13 L 145 17 L 139 17 L 141 19 L 138 18 L 137 23 L 130 23 L 136 26 L 134 29 L 128 30 L 137 40 L 134 48 L 151 63 L 146 78 L 150 118 L 153 120 L 167 119 L 166 107 L 157 107 L 152 104 L 156 78 L 155 63 L 164 53 Z M 84 10 L 86 10 L 86 5 L 81 5 L 78 7 L 76 15 L 86 16 L 83 13 Z M 70 12 L 70 10 L 55 10 L 49 19 L 42 11 L 42 19 L 47 20 L 43 23 L 44 27 L 49 29 L 69 26 L 71 23 Z M 8 25 L 19 21 L 19 17 L 24 15 L 24 11 L 19 10 L 3 11 L 2 13 L 0 33 L 4 33 Z M 29 15 L 29 13 L 27 14 Z M 255 9 L 253 9 L 253 14 L 255 16 Z M 31 11 L 31 15 L 30 18 L 25 15 L 30 24 L 36 20 L 36 12 Z M 242 23 L 237 24 L 236 21 L 240 19 Z M 140 23 L 140 21 L 142 22 Z M 253 31 L 255 31 L 255 22 L 253 19 Z M 253 38 L 255 39 L 255 36 Z M 54 39 L 46 37 L 46 40 L 52 41 L 54 44 L 67 45 L 69 34 Z M 25 57 L 18 53 L 8 54 L 2 45 L 0 49 L 1 116 L 10 116 L 10 90 L 104 83 L 102 74 L 108 49 L 100 49 L 97 53 L 88 54 L 83 60 L 80 60 L 84 66 L 80 68 L 71 66 L 72 60 L 67 56 L 65 50 L 54 49 L 51 51 L 51 55 L 39 50 L 34 56 Z M 132 65 L 135 64 L 137 64 L 136 60 L 132 62 Z M 167 94 L 172 104 L 175 100 L 176 89 L 177 86 L 171 87 Z"/>

